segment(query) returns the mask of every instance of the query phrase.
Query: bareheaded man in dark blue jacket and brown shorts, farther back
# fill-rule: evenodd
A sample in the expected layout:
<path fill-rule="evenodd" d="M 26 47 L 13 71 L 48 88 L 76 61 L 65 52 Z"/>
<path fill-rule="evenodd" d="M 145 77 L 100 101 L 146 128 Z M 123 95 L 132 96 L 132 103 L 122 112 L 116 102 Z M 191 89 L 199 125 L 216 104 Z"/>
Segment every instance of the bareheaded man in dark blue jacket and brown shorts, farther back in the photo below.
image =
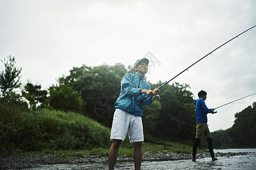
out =
<path fill-rule="evenodd" d="M 201 90 L 198 93 L 199 99 L 194 100 L 194 104 L 196 105 L 196 141 L 193 145 L 193 157 L 192 161 L 196 161 L 196 150 L 203 136 L 207 138 L 208 148 L 210 151 L 210 156 L 212 156 L 212 160 L 217 160 L 213 153 L 212 146 L 212 136 L 210 135 L 210 131 L 207 125 L 207 114 L 208 113 L 217 113 L 214 112 L 214 109 L 208 109 L 205 105 L 204 100 L 207 98 L 207 92 Z"/>

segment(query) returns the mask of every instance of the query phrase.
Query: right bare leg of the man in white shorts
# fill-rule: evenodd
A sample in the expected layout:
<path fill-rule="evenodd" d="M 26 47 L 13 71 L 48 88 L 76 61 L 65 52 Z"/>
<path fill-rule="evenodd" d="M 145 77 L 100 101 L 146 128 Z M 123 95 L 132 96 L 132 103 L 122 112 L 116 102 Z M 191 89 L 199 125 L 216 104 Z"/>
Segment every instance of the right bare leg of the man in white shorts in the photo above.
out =
<path fill-rule="evenodd" d="M 133 160 L 135 170 L 141 169 L 141 161 L 142 161 L 142 142 L 133 142 L 134 150 L 133 150 Z"/>

